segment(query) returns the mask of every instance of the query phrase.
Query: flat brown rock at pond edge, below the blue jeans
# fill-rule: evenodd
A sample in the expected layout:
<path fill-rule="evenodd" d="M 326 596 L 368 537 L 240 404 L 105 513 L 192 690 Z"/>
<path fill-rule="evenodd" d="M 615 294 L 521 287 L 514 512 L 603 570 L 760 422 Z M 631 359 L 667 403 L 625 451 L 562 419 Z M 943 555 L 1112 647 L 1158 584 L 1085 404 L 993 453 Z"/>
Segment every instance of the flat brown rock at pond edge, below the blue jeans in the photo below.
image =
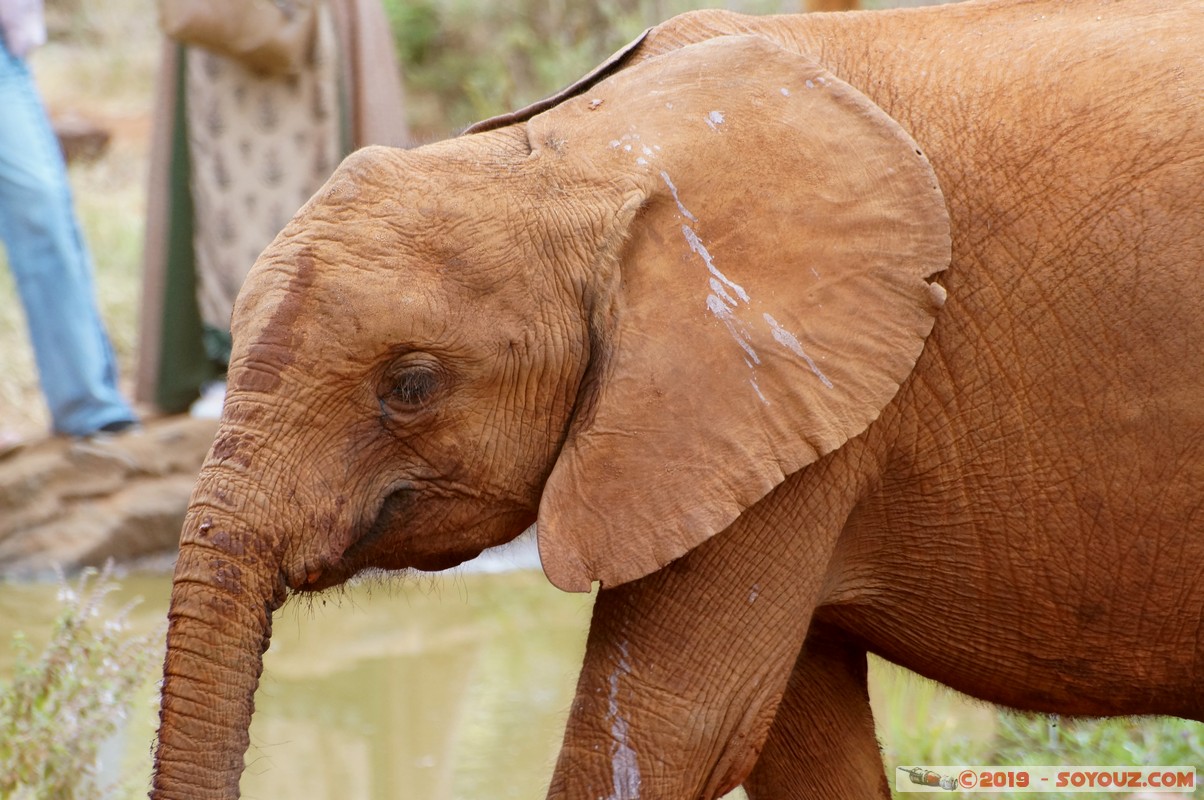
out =
<path fill-rule="evenodd" d="M 0 576 L 36 577 L 170 555 L 218 423 L 48 439 L 0 455 Z"/>

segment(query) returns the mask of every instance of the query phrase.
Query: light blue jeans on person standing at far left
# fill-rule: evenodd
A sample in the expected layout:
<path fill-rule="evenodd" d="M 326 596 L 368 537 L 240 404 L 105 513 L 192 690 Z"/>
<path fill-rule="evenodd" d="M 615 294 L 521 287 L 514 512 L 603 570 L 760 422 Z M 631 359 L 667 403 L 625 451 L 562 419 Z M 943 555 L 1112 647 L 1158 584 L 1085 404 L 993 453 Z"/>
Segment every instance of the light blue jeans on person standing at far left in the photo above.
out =
<path fill-rule="evenodd" d="M 0 39 L 0 241 L 25 310 L 55 433 L 85 436 L 136 417 L 96 307 L 58 140 L 25 63 Z"/>

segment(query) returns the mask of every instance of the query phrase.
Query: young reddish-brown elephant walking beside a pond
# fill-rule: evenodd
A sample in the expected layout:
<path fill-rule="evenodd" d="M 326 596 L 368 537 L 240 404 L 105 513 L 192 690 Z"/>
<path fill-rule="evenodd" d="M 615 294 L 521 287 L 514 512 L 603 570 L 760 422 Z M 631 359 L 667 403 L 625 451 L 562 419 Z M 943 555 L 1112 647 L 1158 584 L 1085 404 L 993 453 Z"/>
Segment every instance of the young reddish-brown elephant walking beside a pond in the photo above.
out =
<path fill-rule="evenodd" d="M 152 798 L 235 798 L 273 612 L 536 524 L 597 590 L 549 798 L 887 798 L 875 653 L 1204 719 L 1204 10 L 649 29 L 349 155 L 264 251 Z"/>

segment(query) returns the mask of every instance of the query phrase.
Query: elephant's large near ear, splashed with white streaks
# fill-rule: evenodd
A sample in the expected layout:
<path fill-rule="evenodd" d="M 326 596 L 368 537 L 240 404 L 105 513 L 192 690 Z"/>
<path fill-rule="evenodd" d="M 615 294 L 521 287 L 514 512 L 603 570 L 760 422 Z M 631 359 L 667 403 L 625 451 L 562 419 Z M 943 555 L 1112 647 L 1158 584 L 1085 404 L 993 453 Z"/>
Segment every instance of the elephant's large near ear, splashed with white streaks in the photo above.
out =
<path fill-rule="evenodd" d="M 757 37 L 642 61 L 527 133 L 622 187 L 539 505 L 544 571 L 585 592 L 679 558 L 878 417 L 944 301 L 949 219 L 893 119 Z"/>

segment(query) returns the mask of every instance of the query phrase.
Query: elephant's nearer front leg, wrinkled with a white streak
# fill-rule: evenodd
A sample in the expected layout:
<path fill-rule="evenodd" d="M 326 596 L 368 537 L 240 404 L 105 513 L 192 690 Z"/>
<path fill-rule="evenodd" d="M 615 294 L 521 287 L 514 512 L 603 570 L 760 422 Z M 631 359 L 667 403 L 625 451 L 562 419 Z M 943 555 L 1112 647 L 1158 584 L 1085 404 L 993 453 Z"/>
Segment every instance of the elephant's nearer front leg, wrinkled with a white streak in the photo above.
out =
<path fill-rule="evenodd" d="M 708 800 L 744 782 L 856 494 L 832 460 L 805 472 L 685 557 L 598 593 L 549 798 Z"/>

